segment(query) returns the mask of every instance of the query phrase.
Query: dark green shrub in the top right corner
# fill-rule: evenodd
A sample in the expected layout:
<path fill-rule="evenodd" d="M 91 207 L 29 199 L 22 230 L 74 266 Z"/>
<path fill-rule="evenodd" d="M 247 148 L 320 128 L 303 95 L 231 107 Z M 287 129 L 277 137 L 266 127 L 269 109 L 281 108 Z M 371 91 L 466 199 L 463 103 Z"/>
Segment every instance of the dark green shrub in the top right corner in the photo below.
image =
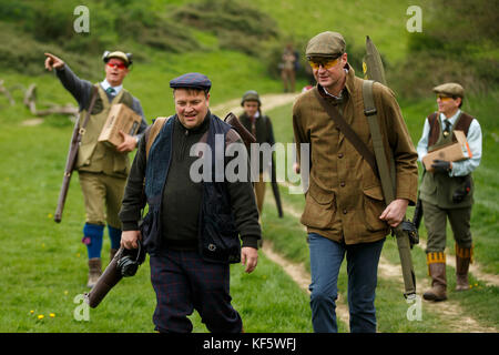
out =
<path fill-rule="evenodd" d="M 425 6 L 425 29 L 408 38 L 404 63 L 387 72 L 405 95 L 428 95 L 442 82 L 459 82 L 467 92 L 488 92 L 499 84 L 499 14 L 497 2 L 431 1 Z M 496 43 L 496 44 L 491 44 Z"/>

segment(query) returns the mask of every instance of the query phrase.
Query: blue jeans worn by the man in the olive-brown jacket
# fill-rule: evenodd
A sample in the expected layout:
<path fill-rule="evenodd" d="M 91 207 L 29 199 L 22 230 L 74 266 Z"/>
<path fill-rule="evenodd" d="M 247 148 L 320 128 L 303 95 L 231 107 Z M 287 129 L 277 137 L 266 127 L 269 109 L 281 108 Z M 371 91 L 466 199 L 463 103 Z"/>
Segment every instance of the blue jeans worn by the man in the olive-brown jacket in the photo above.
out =
<path fill-rule="evenodd" d="M 338 274 L 345 253 L 348 274 L 348 308 L 352 333 L 375 333 L 374 305 L 378 263 L 385 239 L 374 243 L 346 245 L 308 234 L 312 283 L 309 290 L 312 325 L 316 333 L 337 333 L 336 300 Z"/>

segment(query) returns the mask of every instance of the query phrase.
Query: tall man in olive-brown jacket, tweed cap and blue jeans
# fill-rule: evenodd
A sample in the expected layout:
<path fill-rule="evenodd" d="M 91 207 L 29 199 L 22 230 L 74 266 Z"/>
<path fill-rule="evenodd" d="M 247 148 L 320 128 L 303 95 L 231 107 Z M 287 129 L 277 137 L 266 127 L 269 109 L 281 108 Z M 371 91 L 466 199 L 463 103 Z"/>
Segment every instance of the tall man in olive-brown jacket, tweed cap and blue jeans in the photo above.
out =
<path fill-rule="evenodd" d="M 293 106 L 298 144 L 310 144 L 309 189 L 301 222 L 310 252 L 310 307 L 315 332 L 337 332 L 336 298 L 340 265 L 346 254 L 350 332 L 376 332 L 375 291 L 383 244 L 407 205 L 416 202 L 417 154 L 390 89 L 373 87 L 387 155 L 396 170 L 396 200 L 384 203 L 379 175 L 345 138 L 324 104 L 335 105 L 374 153 L 364 113 L 363 82 L 347 62 L 345 41 L 337 32 L 310 39 L 306 55 L 317 85 Z M 324 100 L 324 101 L 320 101 Z"/>

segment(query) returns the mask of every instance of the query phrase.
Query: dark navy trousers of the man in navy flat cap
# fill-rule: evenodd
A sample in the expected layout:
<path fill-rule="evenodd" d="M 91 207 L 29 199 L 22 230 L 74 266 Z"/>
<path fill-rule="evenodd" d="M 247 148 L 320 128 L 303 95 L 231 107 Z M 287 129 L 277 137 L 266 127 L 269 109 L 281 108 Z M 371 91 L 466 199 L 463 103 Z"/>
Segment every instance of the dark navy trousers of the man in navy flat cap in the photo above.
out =
<path fill-rule="evenodd" d="M 196 310 L 212 333 L 242 332 L 241 316 L 231 305 L 228 264 L 205 262 L 195 251 L 172 250 L 151 256 L 150 263 L 156 331 L 192 332 L 187 315 Z"/>

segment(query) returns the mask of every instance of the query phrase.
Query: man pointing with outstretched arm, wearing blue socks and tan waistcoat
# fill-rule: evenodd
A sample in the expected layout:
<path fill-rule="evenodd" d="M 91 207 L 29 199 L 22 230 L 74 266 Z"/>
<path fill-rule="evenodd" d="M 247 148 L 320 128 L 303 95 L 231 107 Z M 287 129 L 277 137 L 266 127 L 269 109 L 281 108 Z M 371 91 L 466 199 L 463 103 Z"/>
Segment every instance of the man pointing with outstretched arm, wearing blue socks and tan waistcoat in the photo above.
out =
<path fill-rule="evenodd" d="M 92 92 L 96 91 L 96 101 L 91 112 L 85 133 L 78 151 L 75 170 L 85 202 L 86 221 L 83 226 L 82 242 L 89 254 L 88 287 L 93 287 L 102 273 L 101 251 L 104 226 L 111 240 L 110 258 L 120 247 L 121 223 L 118 213 L 123 197 L 126 176 L 130 172 L 128 153 L 133 151 L 147 126 L 140 101 L 128 90 L 123 89 L 123 80 L 129 73 L 131 54 L 120 51 L 105 52 L 105 79 L 92 84 L 82 80 L 60 58 L 45 53 L 45 68 L 55 69 L 55 73 L 63 87 L 77 99 L 80 108 L 80 122 L 83 122 L 90 106 Z M 124 103 L 142 116 L 139 133 L 131 136 L 120 132 L 123 143 L 116 148 L 98 142 L 111 105 Z M 105 212 L 104 212 L 105 211 Z"/>

